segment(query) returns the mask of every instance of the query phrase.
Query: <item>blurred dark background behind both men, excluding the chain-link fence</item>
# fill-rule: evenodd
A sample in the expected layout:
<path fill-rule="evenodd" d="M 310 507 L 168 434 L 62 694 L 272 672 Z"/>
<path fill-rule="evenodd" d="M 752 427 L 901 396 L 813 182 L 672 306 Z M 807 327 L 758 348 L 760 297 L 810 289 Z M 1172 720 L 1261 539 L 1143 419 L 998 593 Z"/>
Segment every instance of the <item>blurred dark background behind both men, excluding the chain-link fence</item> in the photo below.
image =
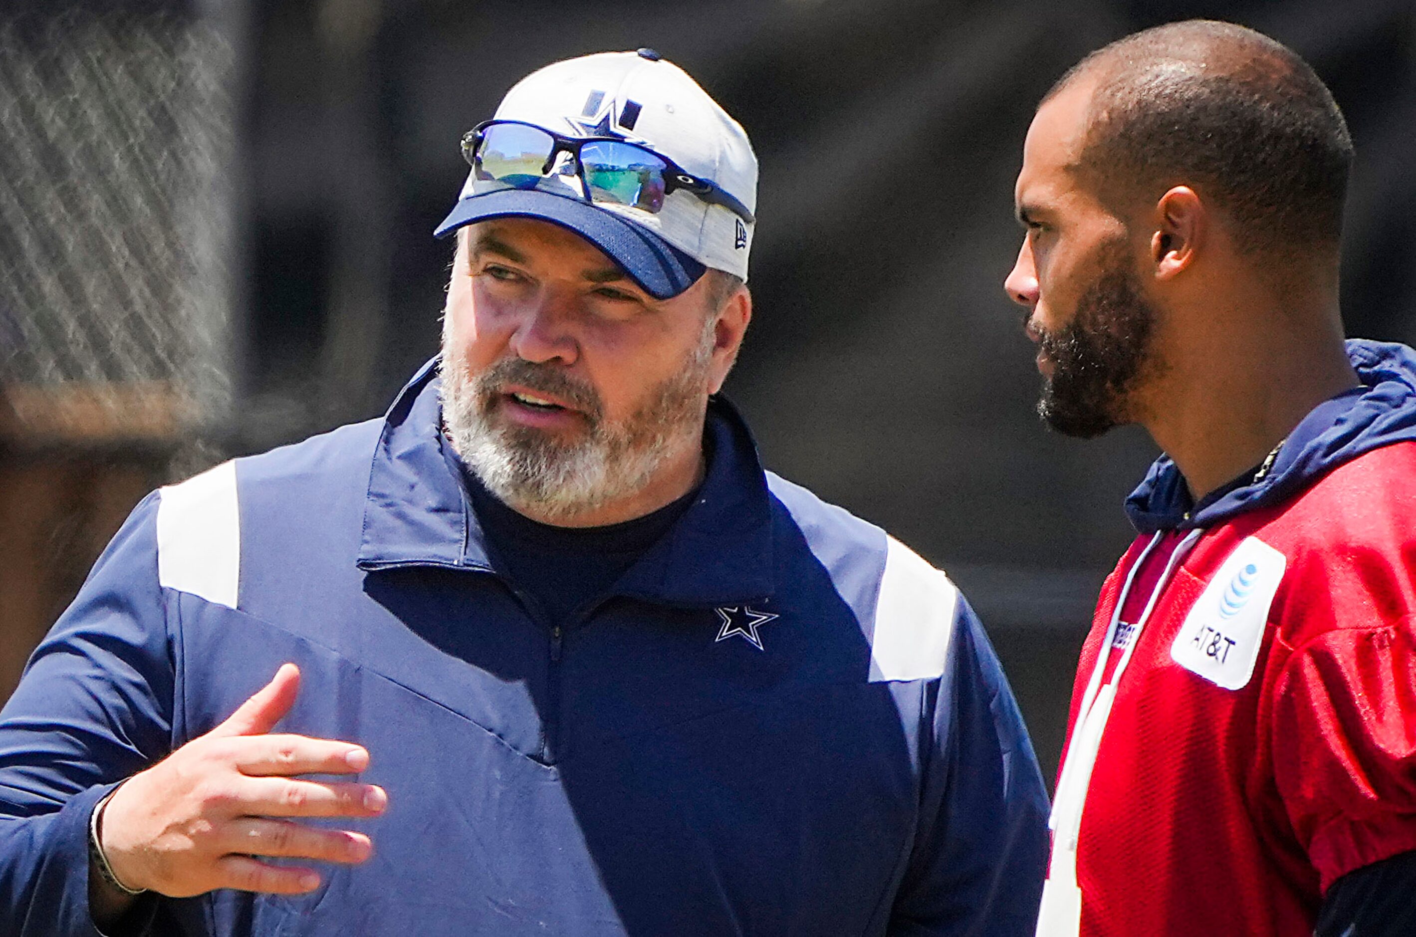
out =
<path fill-rule="evenodd" d="M 180 14 L 217 23 L 234 50 L 231 405 L 195 450 L 11 433 L 0 568 L 33 610 L 0 620 L 0 695 L 146 483 L 377 415 L 436 351 L 450 245 L 430 231 L 466 171 L 457 140 L 555 59 L 653 47 L 748 129 L 756 311 L 728 393 L 769 467 L 959 582 L 1049 780 L 1096 589 L 1130 539 L 1120 504 L 1154 450 L 1134 429 L 1066 440 L 1032 415 L 1032 348 L 1000 284 L 1044 91 L 1170 20 L 1232 20 L 1297 50 L 1357 142 L 1348 331 L 1416 340 L 1409 0 L 256 0 Z M 125 481 L 93 507 L 105 473 Z"/>

